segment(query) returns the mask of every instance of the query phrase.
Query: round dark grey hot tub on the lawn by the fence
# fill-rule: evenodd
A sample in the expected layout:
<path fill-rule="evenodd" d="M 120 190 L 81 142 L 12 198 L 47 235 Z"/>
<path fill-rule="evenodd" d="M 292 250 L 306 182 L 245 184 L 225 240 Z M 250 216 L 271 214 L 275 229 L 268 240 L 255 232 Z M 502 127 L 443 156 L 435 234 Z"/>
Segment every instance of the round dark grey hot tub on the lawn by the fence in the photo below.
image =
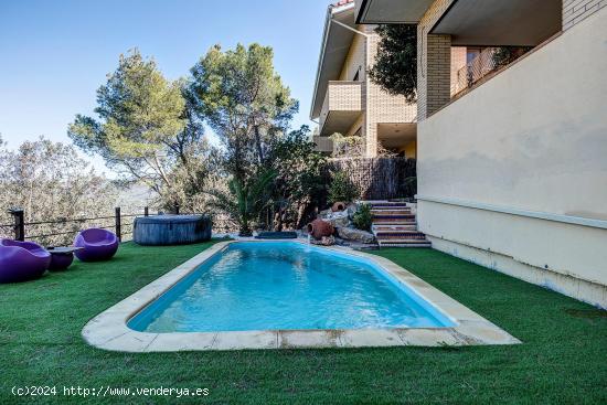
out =
<path fill-rule="evenodd" d="M 211 219 L 206 215 L 138 216 L 132 238 L 139 245 L 184 245 L 211 238 Z"/>

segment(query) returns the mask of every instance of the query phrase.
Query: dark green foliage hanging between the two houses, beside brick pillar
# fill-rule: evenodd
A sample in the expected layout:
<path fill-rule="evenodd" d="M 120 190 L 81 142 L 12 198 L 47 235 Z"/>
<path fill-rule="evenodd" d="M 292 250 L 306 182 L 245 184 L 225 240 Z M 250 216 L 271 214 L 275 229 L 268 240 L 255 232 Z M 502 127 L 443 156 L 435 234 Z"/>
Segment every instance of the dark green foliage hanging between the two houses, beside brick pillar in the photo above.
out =
<path fill-rule="evenodd" d="M 381 36 L 371 81 L 392 95 L 417 99 L 417 25 L 388 24 L 375 30 Z"/>

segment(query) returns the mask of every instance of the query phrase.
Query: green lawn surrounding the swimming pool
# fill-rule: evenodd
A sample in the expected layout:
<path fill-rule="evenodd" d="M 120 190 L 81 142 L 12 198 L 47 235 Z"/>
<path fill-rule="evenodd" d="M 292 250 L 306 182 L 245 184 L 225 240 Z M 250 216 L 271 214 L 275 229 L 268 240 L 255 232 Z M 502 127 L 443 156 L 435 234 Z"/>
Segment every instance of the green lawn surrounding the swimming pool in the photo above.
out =
<path fill-rule="evenodd" d="M 83 326 L 210 244 L 121 246 L 109 263 L 0 285 L 0 404 L 54 385 L 38 403 L 607 403 L 605 311 L 430 249 L 384 249 L 524 344 L 239 352 L 116 353 Z M 200 397 L 63 396 L 63 386 L 206 387 Z"/>

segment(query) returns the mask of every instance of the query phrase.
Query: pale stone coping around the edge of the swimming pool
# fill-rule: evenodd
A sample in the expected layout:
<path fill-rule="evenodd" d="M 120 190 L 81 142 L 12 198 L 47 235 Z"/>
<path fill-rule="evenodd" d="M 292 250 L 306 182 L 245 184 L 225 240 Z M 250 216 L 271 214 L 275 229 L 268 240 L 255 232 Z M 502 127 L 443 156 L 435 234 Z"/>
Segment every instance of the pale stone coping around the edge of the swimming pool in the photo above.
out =
<path fill-rule="evenodd" d="M 89 320 L 82 330 L 84 340 L 98 349 L 120 352 L 175 352 L 243 349 L 318 349 L 379 347 L 459 347 L 518 344 L 520 340 L 482 318 L 417 276 L 381 256 L 348 247 L 324 247 L 330 251 L 364 257 L 413 289 L 439 311 L 454 320 L 451 328 L 386 328 L 330 330 L 262 330 L 234 332 L 138 332 L 127 321 L 203 262 L 238 241 L 220 242 L 157 278 Z M 246 243 L 264 243 L 251 241 Z M 303 243 L 301 241 L 291 241 Z"/>

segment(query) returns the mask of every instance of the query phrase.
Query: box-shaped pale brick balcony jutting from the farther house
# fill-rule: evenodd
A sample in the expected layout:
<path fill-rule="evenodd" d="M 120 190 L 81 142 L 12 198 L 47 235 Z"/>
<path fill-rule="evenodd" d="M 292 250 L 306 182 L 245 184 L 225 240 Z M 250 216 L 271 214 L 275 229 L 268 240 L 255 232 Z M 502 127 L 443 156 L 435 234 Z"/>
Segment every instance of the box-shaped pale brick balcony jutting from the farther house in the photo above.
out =
<path fill-rule="evenodd" d="M 320 136 L 344 134 L 363 111 L 363 82 L 329 82 L 319 117 Z"/>

